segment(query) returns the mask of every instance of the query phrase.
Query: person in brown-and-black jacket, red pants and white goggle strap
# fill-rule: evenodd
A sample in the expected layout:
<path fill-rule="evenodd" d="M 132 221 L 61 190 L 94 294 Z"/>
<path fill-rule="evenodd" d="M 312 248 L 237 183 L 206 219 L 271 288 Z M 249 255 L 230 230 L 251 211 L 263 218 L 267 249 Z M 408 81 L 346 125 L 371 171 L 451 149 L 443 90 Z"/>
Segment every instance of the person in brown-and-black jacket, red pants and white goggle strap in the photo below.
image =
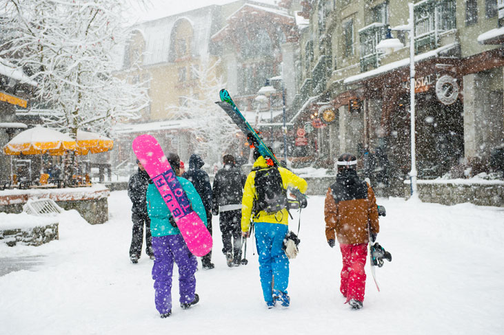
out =
<path fill-rule="evenodd" d="M 372 240 L 379 233 L 378 207 L 373 189 L 357 176 L 357 158 L 343 153 L 336 162 L 338 174 L 325 195 L 325 237 L 331 248 L 339 242 L 343 269 L 340 292 L 354 309 L 364 301 L 364 270 L 369 242 L 368 221 Z"/>

